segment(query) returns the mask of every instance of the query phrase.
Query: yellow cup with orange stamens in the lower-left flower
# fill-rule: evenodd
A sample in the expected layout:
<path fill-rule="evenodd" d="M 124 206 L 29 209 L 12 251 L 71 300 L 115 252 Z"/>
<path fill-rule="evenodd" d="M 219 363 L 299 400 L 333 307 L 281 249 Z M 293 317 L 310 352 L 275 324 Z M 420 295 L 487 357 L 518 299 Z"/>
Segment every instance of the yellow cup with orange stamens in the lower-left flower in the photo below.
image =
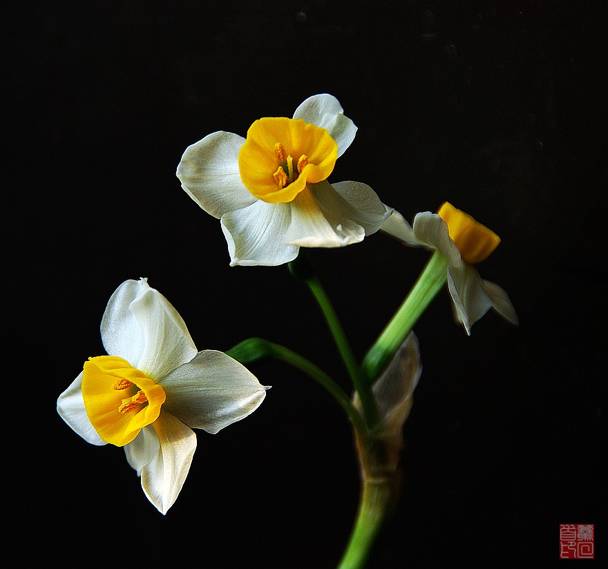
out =
<path fill-rule="evenodd" d="M 89 358 L 82 398 L 91 425 L 106 443 L 122 447 L 158 418 L 164 389 L 117 356 Z"/>

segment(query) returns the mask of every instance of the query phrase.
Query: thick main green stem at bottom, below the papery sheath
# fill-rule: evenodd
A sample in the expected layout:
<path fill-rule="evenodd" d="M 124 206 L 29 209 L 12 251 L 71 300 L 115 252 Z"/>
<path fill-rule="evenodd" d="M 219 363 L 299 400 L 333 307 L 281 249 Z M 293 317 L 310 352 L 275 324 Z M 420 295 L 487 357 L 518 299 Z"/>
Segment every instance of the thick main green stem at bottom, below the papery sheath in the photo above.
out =
<path fill-rule="evenodd" d="M 362 569 L 393 500 L 388 479 L 363 481 L 359 512 L 338 569 Z"/>

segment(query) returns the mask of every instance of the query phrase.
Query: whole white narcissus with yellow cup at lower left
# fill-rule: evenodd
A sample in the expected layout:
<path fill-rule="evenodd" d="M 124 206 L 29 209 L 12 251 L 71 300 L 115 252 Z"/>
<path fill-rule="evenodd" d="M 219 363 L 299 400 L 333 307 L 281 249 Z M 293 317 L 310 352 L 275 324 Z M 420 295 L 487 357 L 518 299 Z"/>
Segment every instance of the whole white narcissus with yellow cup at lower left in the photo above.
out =
<path fill-rule="evenodd" d="M 268 388 L 223 352 L 197 351 L 182 317 L 145 279 L 116 289 L 101 332 L 111 355 L 89 358 L 57 412 L 88 443 L 124 447 L 165 514 L 196 450 L 192 428 L 215 434 L 240 421 Z"/>

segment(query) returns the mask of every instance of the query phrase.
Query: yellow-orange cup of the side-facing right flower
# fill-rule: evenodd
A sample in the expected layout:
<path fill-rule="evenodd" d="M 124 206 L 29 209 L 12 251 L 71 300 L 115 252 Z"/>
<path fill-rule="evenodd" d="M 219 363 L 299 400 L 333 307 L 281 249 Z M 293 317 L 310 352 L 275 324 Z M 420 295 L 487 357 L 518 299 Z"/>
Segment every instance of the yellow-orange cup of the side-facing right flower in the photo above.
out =
<path fill-rule="evenodd" d="M 498 247 L 500 237 L 496 233 L 449 202 L 445 202 L 437 213 L 448 225 L 450 239 L 458 247 L 464 262 L 481 262 Z"/>

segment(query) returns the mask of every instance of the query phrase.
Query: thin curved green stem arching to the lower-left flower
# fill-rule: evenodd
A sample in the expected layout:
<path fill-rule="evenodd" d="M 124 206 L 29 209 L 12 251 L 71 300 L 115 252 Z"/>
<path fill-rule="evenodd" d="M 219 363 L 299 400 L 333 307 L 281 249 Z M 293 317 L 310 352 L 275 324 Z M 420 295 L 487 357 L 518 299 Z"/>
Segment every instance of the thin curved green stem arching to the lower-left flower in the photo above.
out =
<path fill-rule="evenodd" d="M 243 364 L 274 357 L 300 369 L 314 379 L 316 383 L 319 383 L 339 403 L 348 415 L 357 434 L 364 441 L 367 441 L 368 428 L 359 411 L 352 405 L 350 397 L 345 394 L 343 389 L 330 376 L 323 372 L 323 369 L 314 365 L 310 360 L 307 360 L 300 354 L 296 354 L 295 351 L 289 348 L 263 340 L 262 338 L 248 338 L 234 348 L 229 349 L 226 354 Z"/>

